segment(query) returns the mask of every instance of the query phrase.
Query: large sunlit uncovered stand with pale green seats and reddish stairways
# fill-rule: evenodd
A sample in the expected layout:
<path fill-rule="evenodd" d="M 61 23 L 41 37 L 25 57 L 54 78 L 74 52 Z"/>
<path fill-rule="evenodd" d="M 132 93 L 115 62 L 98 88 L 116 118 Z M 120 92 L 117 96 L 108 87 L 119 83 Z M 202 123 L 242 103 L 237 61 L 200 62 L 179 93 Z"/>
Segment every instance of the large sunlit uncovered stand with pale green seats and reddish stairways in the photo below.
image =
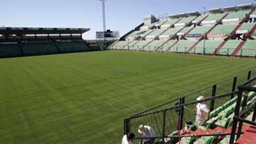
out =
<path fill-rule="evenodd" d="M 157 47 L 154 51 L 256 57 L 253 49 L 255 14 L 255 5 L 244 4 L 210 9 L 201 14 L 169 15 L 151 24 L 144 19 L 147 24 L 142 27 L 147 25 L 147 29 L 136 27 L 136 31 L 130 33 L 134 38 L 127 42 L 127 37 L 125 42 L 120 41 L 109 49 L 128 49 L 129 43 L 129 47 L 136 47 L 129 50 Z M 153 51 L 151 48 L 149 51 Z"/>

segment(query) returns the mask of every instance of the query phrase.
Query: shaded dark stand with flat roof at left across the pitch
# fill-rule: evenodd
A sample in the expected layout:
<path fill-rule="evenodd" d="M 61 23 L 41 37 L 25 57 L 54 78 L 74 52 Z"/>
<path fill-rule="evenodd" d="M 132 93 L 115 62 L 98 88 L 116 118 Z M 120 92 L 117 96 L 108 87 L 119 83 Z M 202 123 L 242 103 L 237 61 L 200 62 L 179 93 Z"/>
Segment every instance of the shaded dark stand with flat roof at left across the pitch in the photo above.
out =
<path fill-rule="evenodd" d="M 0 58 L 101 50 L 115 41 L 97 40 L 88 43 L 82 39 L 82 34 L 89 30 L 0 27 Z"/>

